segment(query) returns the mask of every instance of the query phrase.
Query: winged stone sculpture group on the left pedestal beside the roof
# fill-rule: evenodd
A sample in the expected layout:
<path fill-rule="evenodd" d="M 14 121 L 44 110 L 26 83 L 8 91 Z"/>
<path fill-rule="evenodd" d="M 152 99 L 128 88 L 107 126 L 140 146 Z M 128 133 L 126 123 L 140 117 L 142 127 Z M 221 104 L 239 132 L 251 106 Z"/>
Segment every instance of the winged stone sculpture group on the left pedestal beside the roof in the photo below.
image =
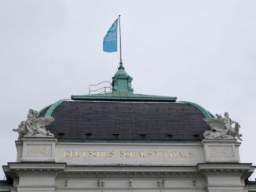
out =
<path fill-rule="evenodd" d="M 46 125 L 51 124 L 54 118 L 38 117 L 38 111 L 30 109 L 27 114 L 27 120 L 21 121 L 18 128 L 13 129 L 14 132 L 19 133 L 19 140 L 23 137 L 54 137 L 53 133 L 46 130 Z"/>

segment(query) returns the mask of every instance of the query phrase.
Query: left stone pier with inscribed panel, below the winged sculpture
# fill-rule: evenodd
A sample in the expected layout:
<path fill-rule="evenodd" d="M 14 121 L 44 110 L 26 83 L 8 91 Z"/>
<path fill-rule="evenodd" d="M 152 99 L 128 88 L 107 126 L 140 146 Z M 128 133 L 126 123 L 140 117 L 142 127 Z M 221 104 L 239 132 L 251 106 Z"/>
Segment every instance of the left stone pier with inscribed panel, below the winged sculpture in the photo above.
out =
<path fill-rule="evenodd" d="M 17 161 L 9 163 L 9 172 L 16 176 L 17 192 L 53 192 L 56 176 L 64 171 L 66 163 L 55 162 L 57 139 L 24 137 L 16 141 Z"/>

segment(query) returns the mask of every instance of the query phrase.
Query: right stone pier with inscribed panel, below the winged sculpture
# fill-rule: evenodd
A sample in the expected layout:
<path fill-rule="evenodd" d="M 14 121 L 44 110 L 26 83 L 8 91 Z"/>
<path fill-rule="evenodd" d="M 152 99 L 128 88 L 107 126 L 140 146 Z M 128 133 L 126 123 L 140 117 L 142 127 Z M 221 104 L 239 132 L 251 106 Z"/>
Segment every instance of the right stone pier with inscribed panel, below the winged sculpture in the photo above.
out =
<path fill-rule="evenodd" d="M 244 179 L 254 170 L 251 164 L 240 163 L 235 139 L 204 139 L 205 163 L 197 165 L 207 180 L 208 192 L 245 192 Z"/>

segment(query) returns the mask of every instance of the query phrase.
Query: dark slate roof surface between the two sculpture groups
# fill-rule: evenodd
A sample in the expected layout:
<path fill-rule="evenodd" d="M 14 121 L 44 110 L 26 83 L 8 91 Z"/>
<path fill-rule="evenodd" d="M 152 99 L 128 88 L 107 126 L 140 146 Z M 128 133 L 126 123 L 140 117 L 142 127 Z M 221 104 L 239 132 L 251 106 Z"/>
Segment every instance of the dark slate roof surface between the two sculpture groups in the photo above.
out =
<path fill-rule="evenodd" d="M 201 110 L 177 102 L 70 100 L 51 116 L 47 129 L 62 139 L 202 140 L 210 129 Z"/>

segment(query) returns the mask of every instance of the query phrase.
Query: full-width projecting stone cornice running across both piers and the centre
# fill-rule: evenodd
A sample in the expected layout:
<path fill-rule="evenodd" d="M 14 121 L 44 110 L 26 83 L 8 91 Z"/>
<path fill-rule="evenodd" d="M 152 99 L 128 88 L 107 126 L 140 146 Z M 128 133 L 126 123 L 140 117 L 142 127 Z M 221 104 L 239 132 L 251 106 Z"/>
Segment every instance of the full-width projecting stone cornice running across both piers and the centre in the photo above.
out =
<path fill-rule="evenodd" d="M 196 166 L 67 166 L 66 163 L 9 163 L 6 176 L 57 176 L 58 178 L 198 178 L 203 176 L 241 176 L 254 172 L 251 164 L 205 163 Z"/>

